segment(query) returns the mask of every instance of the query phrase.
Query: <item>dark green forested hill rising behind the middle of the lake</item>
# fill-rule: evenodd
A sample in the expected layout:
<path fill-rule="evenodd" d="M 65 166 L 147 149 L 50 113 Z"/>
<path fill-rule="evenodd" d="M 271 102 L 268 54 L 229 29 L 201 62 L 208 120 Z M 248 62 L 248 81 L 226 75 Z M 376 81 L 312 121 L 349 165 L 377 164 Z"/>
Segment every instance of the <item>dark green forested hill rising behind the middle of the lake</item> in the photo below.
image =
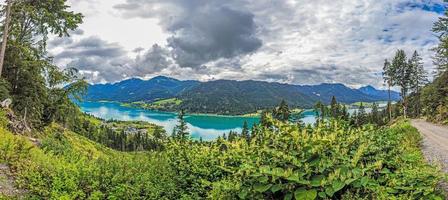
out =
<path fill-rule="evenodd" d="M 282 99 L 292 107 L 311 107 L 313 99 L 294 85 L 261 81 L 218 80 L 180 94 L 181 107 L 192 112 L 244 114 L 272 108 Z"/>

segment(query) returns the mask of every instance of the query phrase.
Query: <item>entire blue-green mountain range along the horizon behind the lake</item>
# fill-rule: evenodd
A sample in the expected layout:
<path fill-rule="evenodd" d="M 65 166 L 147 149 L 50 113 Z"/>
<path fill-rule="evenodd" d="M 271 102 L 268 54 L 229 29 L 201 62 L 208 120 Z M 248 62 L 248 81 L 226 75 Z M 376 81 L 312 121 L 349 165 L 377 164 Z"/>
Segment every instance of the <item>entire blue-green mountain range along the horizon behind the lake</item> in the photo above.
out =
<path fill-rule="evenodd" d="M 177 98 L 182 102 L 177 108 L 187 112 L 244 114 L 271 108 L 281 100 L 292 107 L 311 108 L 317 101 L 329 104 L 332 96 L 347 104 L 386 101 L 388 91 L 372 86 L 352 89 L 343 84 L 330 83 L 292 85 L 253 80 L 200 82 L 157 76 L 149 80 L 132 78 L 117 83 L 91 84 L 85 100 L 152 103 Z M 391 91 L 391 100 L 399 99 L 400 94 Z"/>

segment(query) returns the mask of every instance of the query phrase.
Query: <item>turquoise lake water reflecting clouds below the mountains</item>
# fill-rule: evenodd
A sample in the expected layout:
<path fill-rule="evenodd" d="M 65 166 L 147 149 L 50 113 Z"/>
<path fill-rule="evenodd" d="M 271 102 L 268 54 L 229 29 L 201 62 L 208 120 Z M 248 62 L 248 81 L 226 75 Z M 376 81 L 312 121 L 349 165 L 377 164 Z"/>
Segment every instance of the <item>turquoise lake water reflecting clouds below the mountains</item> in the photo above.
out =
<path fill-rule="evenodd" d="M 163 126 L 171 134 L 177 124 L 177 115 L 172 112 L 160 112 L 140 108 L 130 108 L 114 102 L 78 102 L 83 112 L 102 119 L 122 121 L 147 121 Z M 314 112 L 305 111 L 302 115 L 305 123 L 314 123 Z M 260 120 L 258 117 L 220 116 L 220 115 L 186 115 L 188 131 L 193 138 L 212 140 L 229 131 L 241 132 L 244 121 L 249 128 Z"/>

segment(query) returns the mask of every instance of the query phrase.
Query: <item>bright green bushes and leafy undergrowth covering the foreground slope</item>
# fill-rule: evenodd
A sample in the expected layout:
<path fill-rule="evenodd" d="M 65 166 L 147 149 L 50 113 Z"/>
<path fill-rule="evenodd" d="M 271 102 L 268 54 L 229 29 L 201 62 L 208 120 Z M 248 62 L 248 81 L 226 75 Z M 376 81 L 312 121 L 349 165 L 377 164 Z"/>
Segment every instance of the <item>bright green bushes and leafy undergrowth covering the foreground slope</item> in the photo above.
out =
<path fill-rule="evenodd" d="M 0 128 L 0 162 L 29 198 L 443 198 L 436 190 L 442 174 L 424 161 L 408 122 L 374 130 L 271 121 L 249 142 L 174 140 L 147 153 L 117 152 L 56 125 L 37 147 Z"/>

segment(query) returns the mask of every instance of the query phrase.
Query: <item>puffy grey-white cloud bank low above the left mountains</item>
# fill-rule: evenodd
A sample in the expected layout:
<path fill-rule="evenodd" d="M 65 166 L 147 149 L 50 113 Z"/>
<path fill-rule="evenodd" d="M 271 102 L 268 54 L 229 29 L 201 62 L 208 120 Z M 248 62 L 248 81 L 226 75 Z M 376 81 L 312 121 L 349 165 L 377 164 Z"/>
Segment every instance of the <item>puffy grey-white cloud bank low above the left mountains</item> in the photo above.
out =
<path fill-rule="evenodd" d="M 55 42 L 56 41 L 56 42 Z M 51 41 L 58 43 L 59 40 Z M 67 67 L 75 67 L 85 72 L 91 82 L 114 82 L 127 77 L 153 74 L 171 65 L 167 49 L 155 44 L 135 59 L 116 43 L 98 37 L 88 37 L 79 41 L 59 42 L 63 50 L 55 55 L 56 62 L 64 61 Z"/>

